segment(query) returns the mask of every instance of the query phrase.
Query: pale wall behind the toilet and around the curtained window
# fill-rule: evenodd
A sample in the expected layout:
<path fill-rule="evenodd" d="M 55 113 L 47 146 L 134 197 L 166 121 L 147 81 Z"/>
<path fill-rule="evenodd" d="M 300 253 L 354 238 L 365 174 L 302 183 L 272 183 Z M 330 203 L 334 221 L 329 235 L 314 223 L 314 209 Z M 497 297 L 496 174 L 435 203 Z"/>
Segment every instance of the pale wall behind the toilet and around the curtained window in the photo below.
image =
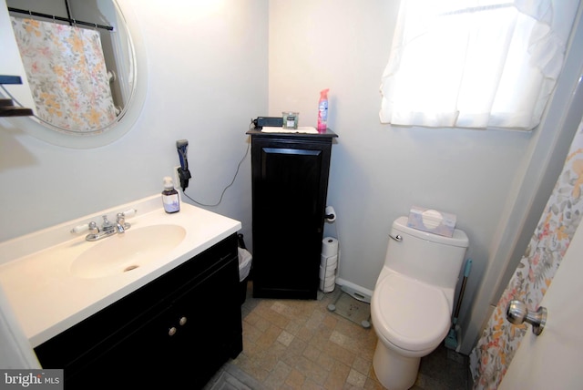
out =
<path fill-rule="evenodd" d="M 512 222 L 506 213 L 527 193 L 523 181 L 533 159 L 547 159 L 543 142 L 553 139 L 555 128 L 544 130 L 551 137 L 540 137 L 540 128 L 517 132 L 382 125 L 379 86 L 398 5 L 385 0 L 271 0 L 269 114 L 299 111 L 301 125 L 315 126 L 319 91 L 331 89 L 329 127 L 339 138 L 332 147 L 328 204 L 337 212 L 341 280 L 373 289 L 391 223 L 411 206 L 457 215 L 457 227 L 470 240 L 467 257 L 474 261 L 460 314 L 463 333 L 472 328 L 462 351 L 467 354 L 507 261 L 495 256 L 497 232 L 506 231 L 516 243 L 519 232 L 506 229 Z M 570 140 L 562 141 L 568 148 Z M 539 166 L 546 169 L 547 161 Z M 536 184 L 527 189 L 538 190 L 543 172 L 532 174 Z M 552 190 L 556 175 L 543 190 Z M 528 204 L 516 217 L 533 213 L 537 220 L 542 206 Z M 335 231 L 328 227 L 327 233 Z M 495 277 L 482 286 L 486 303 L 469 318 L 491 259 L 502 263 L 494 264 Z"/>

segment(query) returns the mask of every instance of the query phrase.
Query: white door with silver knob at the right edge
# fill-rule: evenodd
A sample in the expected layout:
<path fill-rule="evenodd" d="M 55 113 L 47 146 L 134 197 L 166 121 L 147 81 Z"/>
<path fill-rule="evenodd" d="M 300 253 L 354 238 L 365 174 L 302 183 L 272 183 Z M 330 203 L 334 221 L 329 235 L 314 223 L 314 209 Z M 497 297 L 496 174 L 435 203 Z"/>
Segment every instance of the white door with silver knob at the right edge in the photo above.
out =
<path fill-rule="evenodd" d="M 583 383 L 583 227 L 570 242 L 541 306 L 547 308 L 542 334 L 530 325 L 500 390 L 580 389 Z"/>

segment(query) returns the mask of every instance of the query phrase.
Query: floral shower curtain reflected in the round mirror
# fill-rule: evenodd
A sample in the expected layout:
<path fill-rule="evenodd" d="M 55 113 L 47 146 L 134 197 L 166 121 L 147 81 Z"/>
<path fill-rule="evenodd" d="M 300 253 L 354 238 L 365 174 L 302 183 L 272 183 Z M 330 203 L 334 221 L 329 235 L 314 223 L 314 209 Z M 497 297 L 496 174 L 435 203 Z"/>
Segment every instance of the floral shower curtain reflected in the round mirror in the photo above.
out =
<path fill-rule="evenodd" d="M 66 133 L 102 131 L 116 118 L 97 31 L 11 17 L 36 116 Z"/>

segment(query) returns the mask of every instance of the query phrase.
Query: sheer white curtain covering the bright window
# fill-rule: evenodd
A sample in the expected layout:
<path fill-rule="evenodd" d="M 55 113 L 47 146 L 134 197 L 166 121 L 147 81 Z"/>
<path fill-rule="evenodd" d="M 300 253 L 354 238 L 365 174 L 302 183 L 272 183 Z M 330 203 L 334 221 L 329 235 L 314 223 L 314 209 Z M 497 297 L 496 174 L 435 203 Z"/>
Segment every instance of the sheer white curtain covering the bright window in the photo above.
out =
<path fill-rule="evenodd" d="M 535 128 L 578 3 L 402 0 L 381 84 L 381 122 Z"/>

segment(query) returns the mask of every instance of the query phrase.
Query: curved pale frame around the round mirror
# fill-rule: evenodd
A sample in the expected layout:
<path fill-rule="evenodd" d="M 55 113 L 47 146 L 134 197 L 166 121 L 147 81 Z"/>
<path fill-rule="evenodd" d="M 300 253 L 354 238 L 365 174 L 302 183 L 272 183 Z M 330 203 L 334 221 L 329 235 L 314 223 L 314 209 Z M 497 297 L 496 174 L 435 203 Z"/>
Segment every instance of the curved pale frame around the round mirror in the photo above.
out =
<path fill-rule="evenodd" d="M 71 149 L 93 149 L 108 145 L 123 137 L 134 127 L 141 114 L 148 91 L 148 60 L 141 31 L 136 15 L 131 6 L 123 0 L 111 0 L 121 13 L 131 39 L 133 61 L 135 61 L 135 87 L 132 97 L 121 115 L 99 132 L 90 134 L 66 134 L 62 131 L 42 125 L 34 117 L 9 118 L 15 128 L 24 130 L 27 134 L 42 139 L 50 144 Z"/>

